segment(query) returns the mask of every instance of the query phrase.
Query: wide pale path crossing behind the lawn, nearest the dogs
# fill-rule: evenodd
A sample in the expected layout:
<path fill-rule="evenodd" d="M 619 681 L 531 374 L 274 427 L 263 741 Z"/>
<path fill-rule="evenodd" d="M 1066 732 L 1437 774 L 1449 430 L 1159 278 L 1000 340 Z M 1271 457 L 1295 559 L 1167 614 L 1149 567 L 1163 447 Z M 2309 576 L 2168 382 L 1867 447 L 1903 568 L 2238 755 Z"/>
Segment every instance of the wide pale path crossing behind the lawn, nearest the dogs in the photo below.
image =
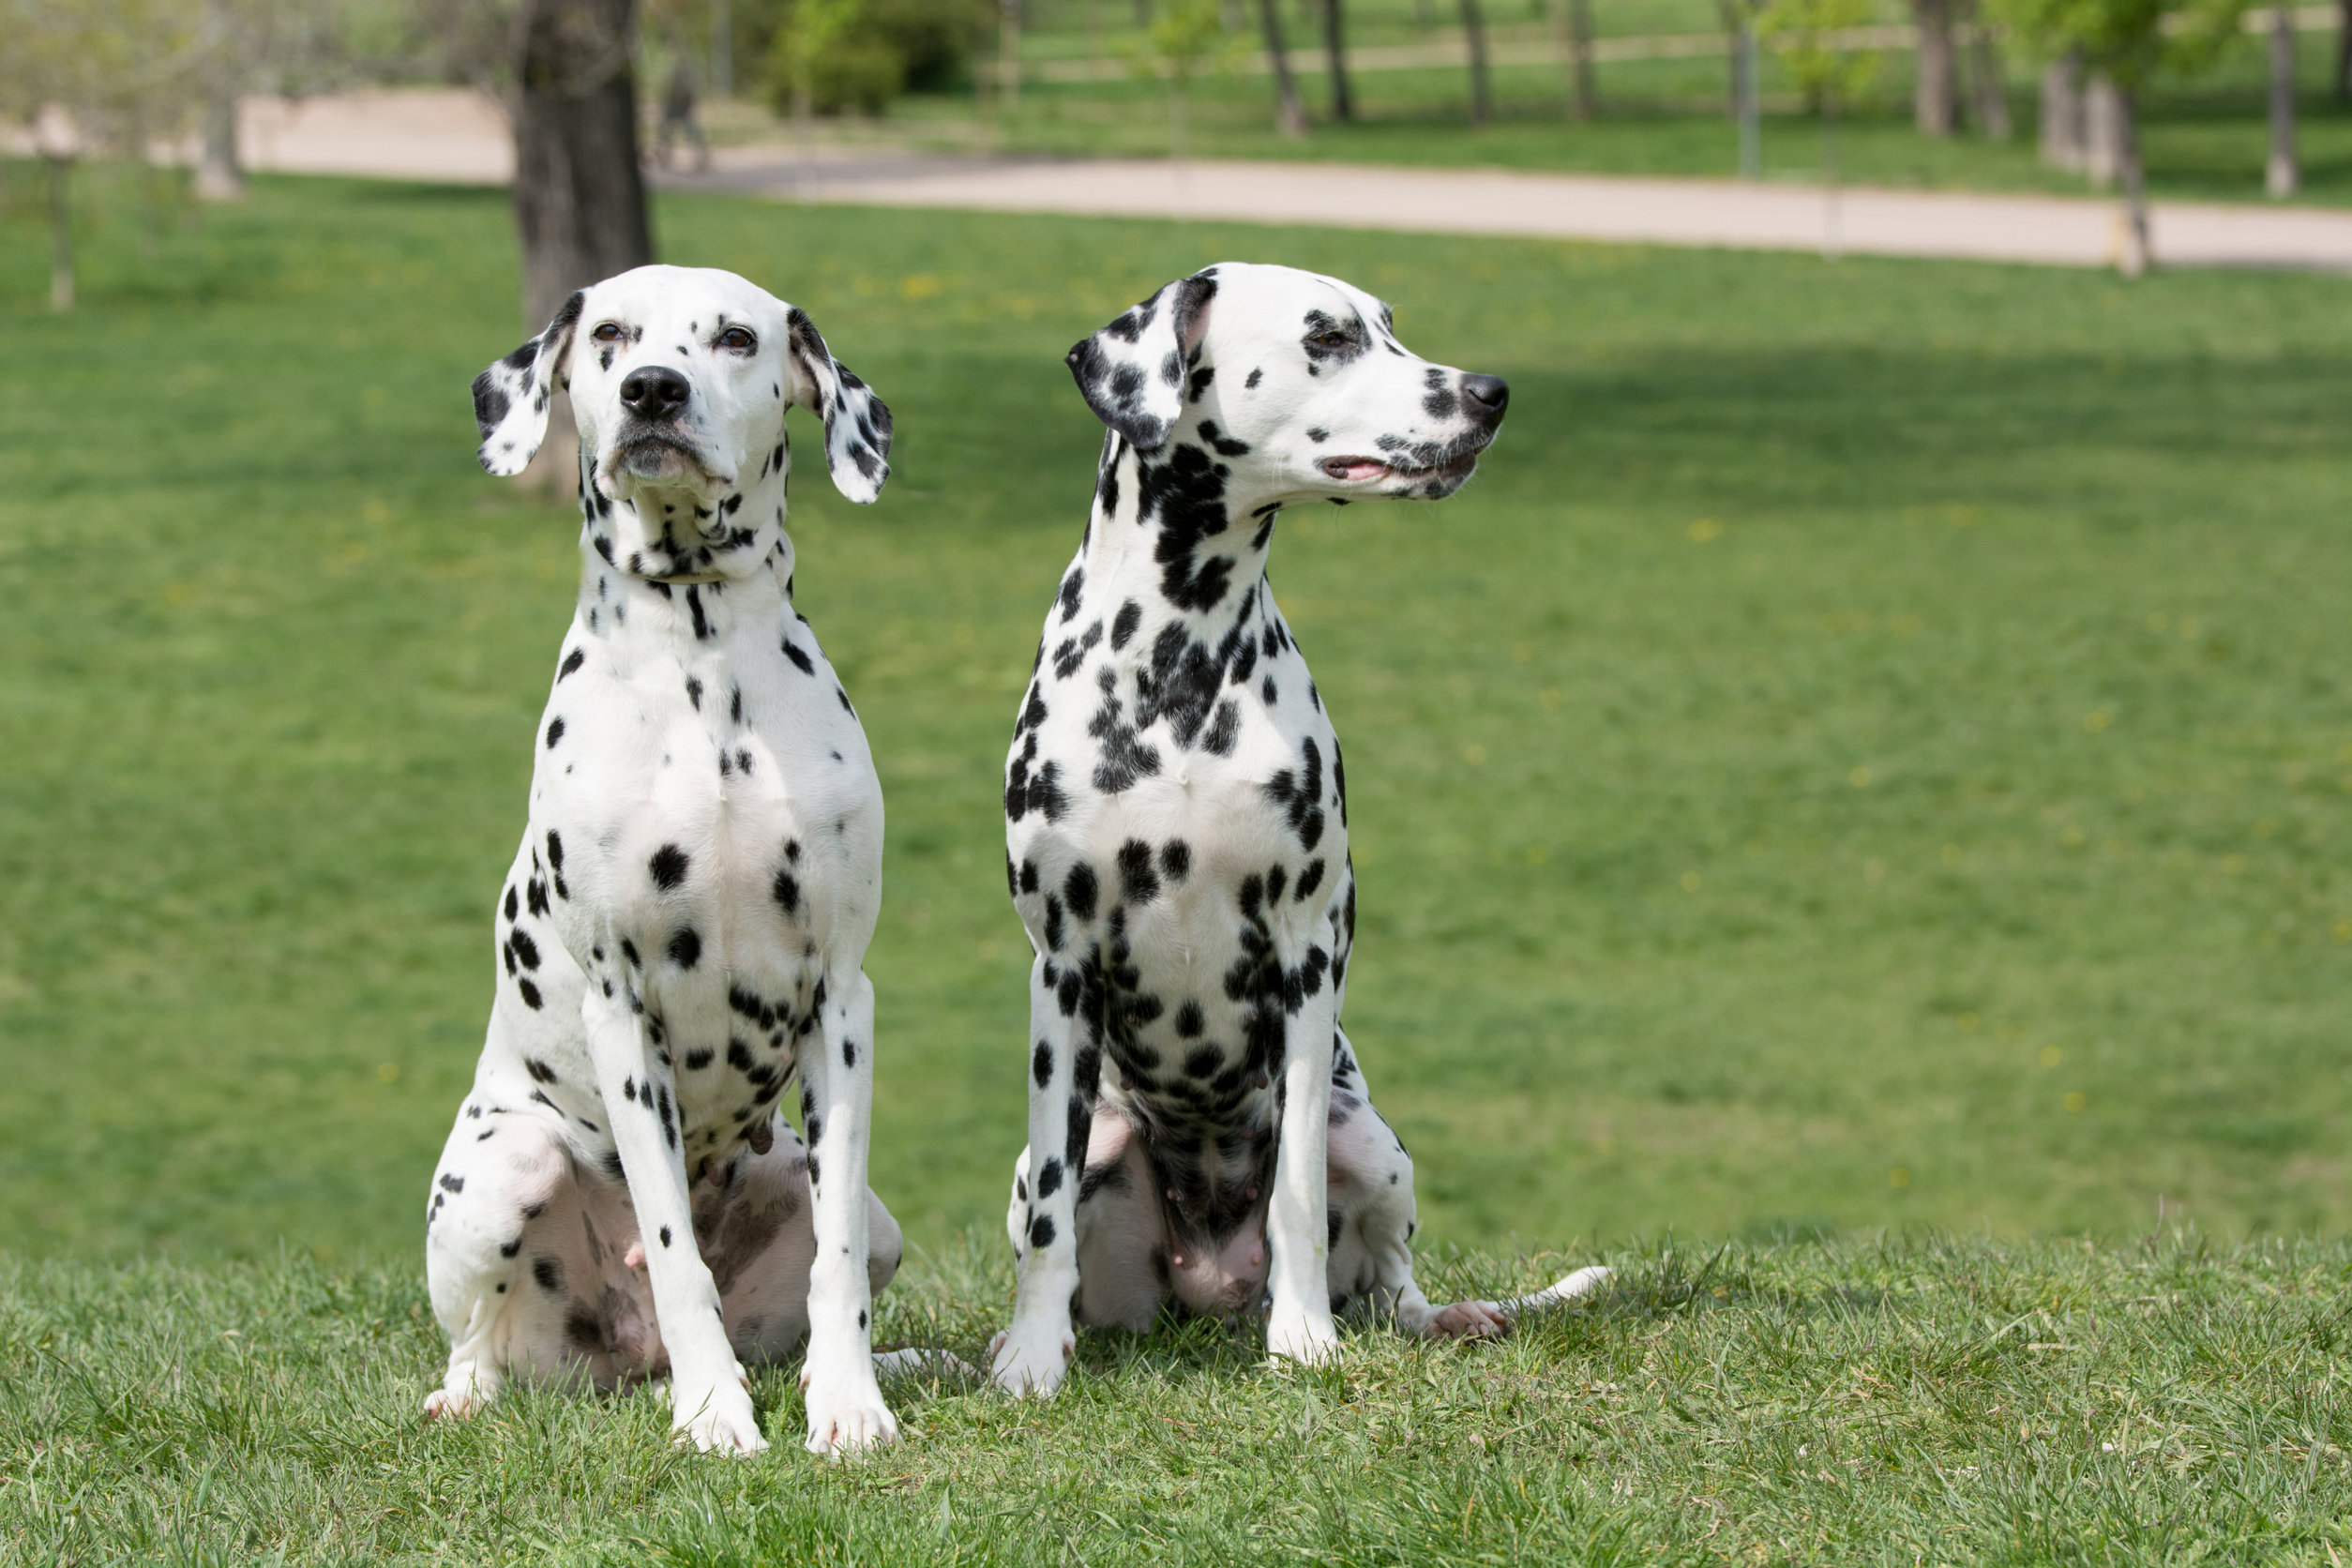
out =
<path fill-rule="evenodd" d="M 376 92 L 247 106 L 252 165 L 503 183 L 513 150 L 496 106 L 454 92 Z M 1947 195 L 1736 181 L 1383 169 L 1284 162 L 1115 162 L 915 158 L 889 148 L 727 148 L 708 174 L 659 176 L 689 190 L 875 207 L 1068 212 L 1331 228 L 1534 235 L 1729 249 L 1823 249 L 2107 266 L 2112 200 Z M 2159 202 L 2166 266 L 2352 270 L 2352 212 Z"/>

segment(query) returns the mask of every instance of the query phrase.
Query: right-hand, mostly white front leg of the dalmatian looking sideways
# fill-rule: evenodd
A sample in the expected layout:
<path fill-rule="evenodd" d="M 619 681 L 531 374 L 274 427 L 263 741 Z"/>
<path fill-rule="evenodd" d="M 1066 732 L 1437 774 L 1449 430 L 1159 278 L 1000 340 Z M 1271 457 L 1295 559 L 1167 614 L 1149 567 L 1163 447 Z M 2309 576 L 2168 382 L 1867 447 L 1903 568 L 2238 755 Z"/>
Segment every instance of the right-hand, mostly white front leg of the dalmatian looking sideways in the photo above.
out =
<path fill-rule="evenodd" d="M 1329 1150 L 1324 1145 L 1331 1117 L 1331 1039 L 1338 1030 L 1338 992 L 1322 976 L 1322 966 L 1303 969 L 1319 983 L 1284 1027 L 1275 1199 L 1265 1213 L 1275 1293 L 1275 1309 L 1265 1324 L 1265 1349 L 1277 1359 L 1319 1363 L 1338 1359 L 1338 1328 L 1331 1324 L 1331 1298 L 1324 1279 L 1331 1251 Z M 1294 973 L 1298 973 L 1296 966 Z M 1265 1006 L 1282 1006 L 1282 1001 L 1268 997 Z"/>

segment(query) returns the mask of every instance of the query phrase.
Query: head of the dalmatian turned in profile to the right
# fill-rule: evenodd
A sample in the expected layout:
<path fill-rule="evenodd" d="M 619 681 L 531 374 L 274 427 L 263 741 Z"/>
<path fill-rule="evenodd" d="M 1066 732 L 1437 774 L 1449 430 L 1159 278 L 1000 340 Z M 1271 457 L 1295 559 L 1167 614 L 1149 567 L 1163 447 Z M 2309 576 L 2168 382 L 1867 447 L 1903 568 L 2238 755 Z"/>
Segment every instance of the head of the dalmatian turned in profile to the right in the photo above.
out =
<path fill-rule="evenodd" d="M 1510 388 L 1397 341 L 1388 306 L 1287 266 L 1178 277 L 1070 350 L 1077 390 L 1138 451 L 1202 444 L 1251 496 L 1451 496 Z"/>

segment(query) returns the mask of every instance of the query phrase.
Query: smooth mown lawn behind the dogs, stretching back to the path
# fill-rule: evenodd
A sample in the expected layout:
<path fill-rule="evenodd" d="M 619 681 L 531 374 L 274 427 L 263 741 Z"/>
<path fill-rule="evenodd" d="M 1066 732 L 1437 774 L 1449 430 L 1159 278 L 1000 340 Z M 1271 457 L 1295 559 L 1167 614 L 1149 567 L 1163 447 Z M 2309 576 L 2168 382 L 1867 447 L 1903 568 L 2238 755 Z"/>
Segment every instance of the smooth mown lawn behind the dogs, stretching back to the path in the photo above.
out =
<path fill-rule="evenodd" d="M 898 409 L 802 484 L 889 797 L 875 1182 L 993 1225 L 997 778 L 1096 449 L 1061 350 L 1338 270 L 1510 376 L 1479 482 L 1275 578 L 1348 741 L 1350 1034 L 1439 1246 L 2340 1227 L 2340 284 L 680 200 Z M 118 249 L 118 242 L 120 249 Z M 266 183 L 40 308 L 0 437 L 0 1246 L 414 1255 L 574 522 L 470 461 L 494 193 Z M 1858 785 L 1856 780 L 1865 780 Z"/>

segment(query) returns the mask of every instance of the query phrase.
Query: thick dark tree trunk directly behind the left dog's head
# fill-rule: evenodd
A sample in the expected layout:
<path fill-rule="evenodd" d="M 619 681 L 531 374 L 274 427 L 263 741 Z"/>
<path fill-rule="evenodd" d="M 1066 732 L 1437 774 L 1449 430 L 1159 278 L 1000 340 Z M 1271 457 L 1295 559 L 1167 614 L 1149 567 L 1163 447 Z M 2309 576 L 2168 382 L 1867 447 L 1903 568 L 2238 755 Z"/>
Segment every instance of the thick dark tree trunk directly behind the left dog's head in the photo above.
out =
<path fill-rule="evenodd" d="M 637 172 L 633 21 L 633 0 L 524 0 L 513 120 L 527 331 L 543 329 L 574 289 L 654 259 Z M 562 393 L 524 480 L 550 494 L 579 482 Z"/>

